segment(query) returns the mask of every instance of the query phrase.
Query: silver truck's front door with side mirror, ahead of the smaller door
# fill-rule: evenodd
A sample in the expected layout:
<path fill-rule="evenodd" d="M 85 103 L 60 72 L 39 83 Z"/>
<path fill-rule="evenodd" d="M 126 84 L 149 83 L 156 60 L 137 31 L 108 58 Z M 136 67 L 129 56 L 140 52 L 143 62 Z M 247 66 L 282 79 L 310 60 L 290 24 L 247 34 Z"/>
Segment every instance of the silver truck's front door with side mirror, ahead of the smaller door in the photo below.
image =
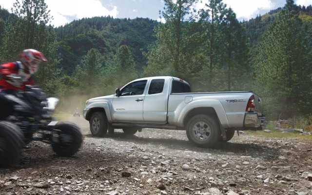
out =
<path fill-rule="evenodd" d="M 143 102 L 147 80 L 129 83 L 112 102 L 112 119 L 118 122 L 142 122 Z"/>

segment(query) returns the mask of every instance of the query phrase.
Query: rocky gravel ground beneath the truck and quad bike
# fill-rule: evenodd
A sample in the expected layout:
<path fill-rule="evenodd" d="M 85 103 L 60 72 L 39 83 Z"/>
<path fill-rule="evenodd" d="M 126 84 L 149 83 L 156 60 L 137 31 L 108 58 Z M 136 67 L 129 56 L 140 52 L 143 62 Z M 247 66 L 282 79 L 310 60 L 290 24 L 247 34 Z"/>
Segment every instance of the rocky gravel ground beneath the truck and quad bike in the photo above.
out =
<path fill-rule="evenodd" d="M 92 137 L 83 117 L 68 120 L 84 135 L 78 153 L 31 142 L 0 168 L 0 195 L 312 195 L 311 139 L 244 133 L 203 149 L 184 131 Z"/>

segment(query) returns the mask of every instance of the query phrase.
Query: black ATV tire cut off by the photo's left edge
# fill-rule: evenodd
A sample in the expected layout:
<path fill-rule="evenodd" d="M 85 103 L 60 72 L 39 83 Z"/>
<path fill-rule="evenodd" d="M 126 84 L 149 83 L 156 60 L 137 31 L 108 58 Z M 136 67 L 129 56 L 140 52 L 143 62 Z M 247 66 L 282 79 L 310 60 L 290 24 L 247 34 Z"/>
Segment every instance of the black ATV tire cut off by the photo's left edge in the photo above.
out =
<path fill-rule="evenodd" d="M 0 167 L 17 163 L 24 145 L 20 127 L 8 121 L 0 121 Z"/>

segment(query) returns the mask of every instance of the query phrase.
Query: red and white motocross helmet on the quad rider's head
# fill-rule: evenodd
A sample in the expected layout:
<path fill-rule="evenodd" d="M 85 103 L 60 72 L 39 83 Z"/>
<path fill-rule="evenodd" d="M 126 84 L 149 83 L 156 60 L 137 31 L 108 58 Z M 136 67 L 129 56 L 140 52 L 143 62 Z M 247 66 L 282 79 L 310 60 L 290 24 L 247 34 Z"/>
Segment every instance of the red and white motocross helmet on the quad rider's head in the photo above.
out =
<path fill-rule="evenodd" d="M 20 55 L 20 60 L 32 73 L 37 72 L 41 62 L 47 62 L 43 54 L 35 49 L 25 49 Z"/>

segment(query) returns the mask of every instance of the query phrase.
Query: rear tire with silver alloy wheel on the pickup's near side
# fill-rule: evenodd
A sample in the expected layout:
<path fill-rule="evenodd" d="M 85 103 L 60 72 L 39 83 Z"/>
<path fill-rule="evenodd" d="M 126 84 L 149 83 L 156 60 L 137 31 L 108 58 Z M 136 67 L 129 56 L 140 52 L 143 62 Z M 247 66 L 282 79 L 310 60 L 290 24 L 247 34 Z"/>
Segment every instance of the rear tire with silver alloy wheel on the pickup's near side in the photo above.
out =
<path fill-rule="evenodd" d="M 219 140 L 221 132 L 215 118 L 196 115 L 189 120 L 186 126 L 186 135 L 197 147 L 209 148 Z"/>

